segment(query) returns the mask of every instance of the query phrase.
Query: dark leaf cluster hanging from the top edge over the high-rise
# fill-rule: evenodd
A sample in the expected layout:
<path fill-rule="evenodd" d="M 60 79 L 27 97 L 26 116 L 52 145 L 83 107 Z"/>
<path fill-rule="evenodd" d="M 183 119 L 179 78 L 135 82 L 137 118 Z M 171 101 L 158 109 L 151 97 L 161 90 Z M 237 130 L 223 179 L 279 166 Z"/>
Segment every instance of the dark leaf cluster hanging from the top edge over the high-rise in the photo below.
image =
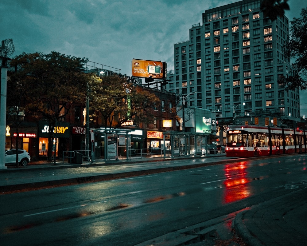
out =
<path fill-rule="evenodd" d="M 285 14 L 285 10 L 290 10 L 288 0 L 262 0 L 260 9 L 264 14 L 264 17 L 269 17 L 272 21 L 277 17 L 282 17 Z"/>

